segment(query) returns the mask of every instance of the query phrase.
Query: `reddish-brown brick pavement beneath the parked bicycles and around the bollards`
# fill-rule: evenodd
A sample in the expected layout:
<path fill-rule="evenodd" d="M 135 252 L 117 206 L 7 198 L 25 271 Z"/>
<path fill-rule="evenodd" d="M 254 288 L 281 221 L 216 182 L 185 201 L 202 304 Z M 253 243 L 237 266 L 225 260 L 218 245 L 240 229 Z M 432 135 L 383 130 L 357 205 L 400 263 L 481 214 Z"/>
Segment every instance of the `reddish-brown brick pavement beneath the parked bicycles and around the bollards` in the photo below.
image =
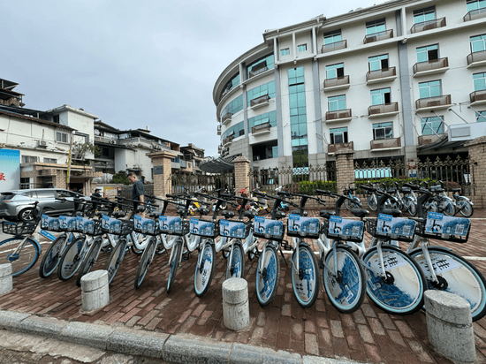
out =
<path fill-rule="evenodd" d="M 309 214 L 313 215 L 313 214 Z M 486 217 L 478 210 L 475 217 Z M 486 257 L 486 219 L 474 220 L 467 244 L 451 244 L 464 256 Z M 367 240 L 370 237 L 367 234 Z M 441 242 L 442 244 L 442 242 Z M 251 327 L 243 332 L 226 330 L 223 324 L 221 285 L 225 261 L 217 255 L 216 272 L 208 294 L 194 293 L 195 254 L 183 262 L 176 284 L 166 292 L 168 255 L 156 256 L 138 290 L 133 279 L 139 257 L 127 254 L 110 285 L 110 305 L 83 315 L 81 292 L 74 278 L 62 282 L 54 277 L 38 276 L 38 263 L 26 274 L 14 278 L 14 290 L 0 296 L 0 309 L 52 316 L 67 321 L 105 323 L 169 334 L 211 337 L 223 342 L 262 345 L 288 352 L 385 363 L 449 363 L 435 353 L 427 340 L 425 314 L 388 315 L 368 298 L 352 315 L 343 315 L 330 305 L 323 287 L 313 307 L 303 309 L 292 292 L 290 268 L 281 260 L 281 279 L 277 296 L 269 307 L 260 307 L 254 293 L 256 260 L 247 261 Z M 107 255 L 101 256 L 95 269 L 103 269 Z M 285 259 L 290 258 L 285 254 Z M 486 261 L 473 261 L 486 273 Z M 476 352 L 486 362 L 486 318 L 474 323 Z"/>

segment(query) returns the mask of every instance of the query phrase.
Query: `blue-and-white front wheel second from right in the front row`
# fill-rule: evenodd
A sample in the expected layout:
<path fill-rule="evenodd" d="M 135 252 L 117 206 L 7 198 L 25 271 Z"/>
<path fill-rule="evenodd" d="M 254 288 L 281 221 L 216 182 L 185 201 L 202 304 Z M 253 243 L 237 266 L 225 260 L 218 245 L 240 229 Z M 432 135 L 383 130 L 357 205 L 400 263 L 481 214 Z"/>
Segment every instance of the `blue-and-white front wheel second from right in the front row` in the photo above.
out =
<path fill-rule="evenodd" d="M 383 245 L 382 252 L 386 277 L 376 273 L 382 270 L 376 246 L 362 257 L 368 297 L 383 311 L 395 315 L 413 314 L 423 306 L 423 292 L 427 289 L 425 276 L 417 262 L 399 248 Z"/>

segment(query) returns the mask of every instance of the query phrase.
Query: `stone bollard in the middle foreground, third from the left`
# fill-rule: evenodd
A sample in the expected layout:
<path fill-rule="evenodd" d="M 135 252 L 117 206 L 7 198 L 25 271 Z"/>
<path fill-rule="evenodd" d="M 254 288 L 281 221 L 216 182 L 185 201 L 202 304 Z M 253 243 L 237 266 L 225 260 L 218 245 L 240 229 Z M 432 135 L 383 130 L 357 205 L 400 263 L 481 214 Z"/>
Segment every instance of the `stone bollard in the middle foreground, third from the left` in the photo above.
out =
<path fill-rule="evenodd" d="M 246 329 L 250 323 L 248 284 L 243 278 L 230 278 L 223 282 L 224 326 L 230 330 Z"/>

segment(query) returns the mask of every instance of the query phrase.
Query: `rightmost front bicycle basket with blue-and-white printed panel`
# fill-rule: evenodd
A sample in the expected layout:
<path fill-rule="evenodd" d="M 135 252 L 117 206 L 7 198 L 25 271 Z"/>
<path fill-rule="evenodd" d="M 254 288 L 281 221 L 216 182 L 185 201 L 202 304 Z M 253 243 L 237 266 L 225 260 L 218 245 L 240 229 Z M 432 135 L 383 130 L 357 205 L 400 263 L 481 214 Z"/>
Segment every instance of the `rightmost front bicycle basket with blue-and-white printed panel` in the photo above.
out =
<path fill-rule="evenodd" d="M 471 231 L 471 220 L 464 217 L 444 216 L 429 212 L 427 219 L 418 224 L 416 233 L 424 238 L 466 243 Z"/>

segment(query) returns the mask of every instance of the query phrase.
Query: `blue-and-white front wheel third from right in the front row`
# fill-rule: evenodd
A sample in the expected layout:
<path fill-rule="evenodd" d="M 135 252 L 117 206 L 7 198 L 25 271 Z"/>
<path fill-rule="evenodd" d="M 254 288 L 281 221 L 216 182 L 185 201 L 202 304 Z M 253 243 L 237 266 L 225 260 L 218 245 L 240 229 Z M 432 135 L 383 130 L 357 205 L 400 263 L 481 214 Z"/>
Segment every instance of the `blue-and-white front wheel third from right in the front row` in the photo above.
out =
<path fill-rule="evenodd" d="M 360 258 L 343 246 L 330 250 L 325 258 L 323 269 L 324 289 L 332 306 L 338 311 L 349 314 L 361 307 L 366 294 L 366 276 Z"/>

